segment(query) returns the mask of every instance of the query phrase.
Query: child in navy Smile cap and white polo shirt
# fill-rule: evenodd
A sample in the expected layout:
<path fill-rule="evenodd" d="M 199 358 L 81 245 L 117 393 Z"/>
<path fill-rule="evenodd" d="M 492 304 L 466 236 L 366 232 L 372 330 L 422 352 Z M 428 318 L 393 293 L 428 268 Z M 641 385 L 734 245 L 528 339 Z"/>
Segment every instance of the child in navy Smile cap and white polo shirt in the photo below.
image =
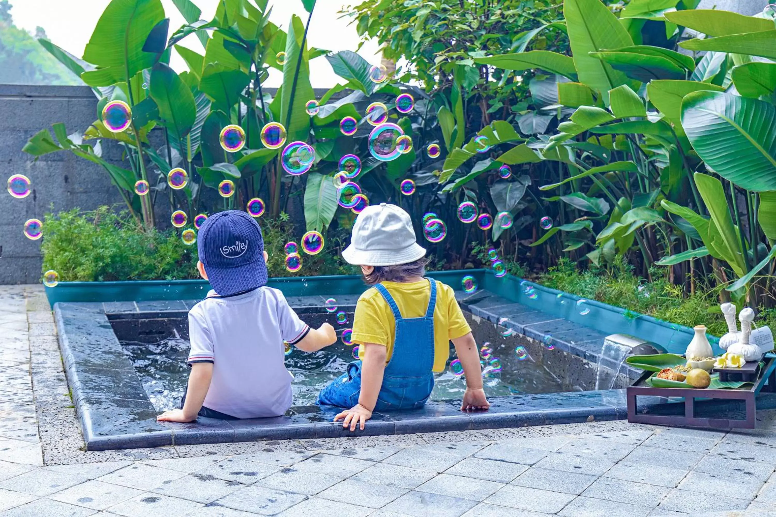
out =
<path fill-rule="evenodd" d="M 197 269 L 213 290 L 189 311 L 192 370 L 181 408 L 157 419 L 282 415 L 292 402 L 283 341 L 314 352 L 337 340 L 334 328 L 310 329 L 281 291 L 265 285 L 262 229 L 247 213 L 211 215 L 199 229 L 197 250 Z"/>

